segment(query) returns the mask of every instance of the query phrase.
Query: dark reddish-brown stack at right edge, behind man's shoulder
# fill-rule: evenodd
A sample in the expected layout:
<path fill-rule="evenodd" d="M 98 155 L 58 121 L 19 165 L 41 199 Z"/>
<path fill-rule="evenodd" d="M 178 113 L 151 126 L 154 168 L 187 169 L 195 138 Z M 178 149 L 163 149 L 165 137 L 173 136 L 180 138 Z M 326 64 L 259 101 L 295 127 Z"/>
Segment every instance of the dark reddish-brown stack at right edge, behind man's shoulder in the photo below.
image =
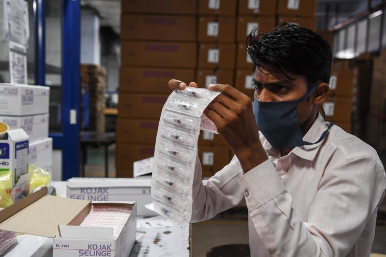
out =
<path fill-rule="evenodd" d="M 386 49 L 374 58 L 373 81 L 371 83 L 370 110 L 368 120 L 369 143 L 377 150 L 386 149 Z"/>

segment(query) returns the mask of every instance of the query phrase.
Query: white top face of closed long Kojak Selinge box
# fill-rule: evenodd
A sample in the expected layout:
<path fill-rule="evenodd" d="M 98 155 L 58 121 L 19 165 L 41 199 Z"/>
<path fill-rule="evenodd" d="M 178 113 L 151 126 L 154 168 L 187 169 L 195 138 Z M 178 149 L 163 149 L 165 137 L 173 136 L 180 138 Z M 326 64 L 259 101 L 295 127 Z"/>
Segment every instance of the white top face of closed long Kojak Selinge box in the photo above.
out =
<path fill-rule="evenodd" d="M 151 186 L 151 178 L 70 178 L 68 188 L 102 188 Z"/>

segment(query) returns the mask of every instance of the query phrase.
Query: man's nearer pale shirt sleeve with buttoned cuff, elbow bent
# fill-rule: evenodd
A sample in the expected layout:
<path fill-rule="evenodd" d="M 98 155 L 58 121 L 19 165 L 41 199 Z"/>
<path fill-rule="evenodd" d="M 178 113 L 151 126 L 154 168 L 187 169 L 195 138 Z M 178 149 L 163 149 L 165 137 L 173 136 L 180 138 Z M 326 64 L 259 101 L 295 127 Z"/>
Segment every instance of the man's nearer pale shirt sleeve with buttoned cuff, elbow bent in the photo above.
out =
<path fill-rule="evenodd" d="M 253 227 L 271 256 L 346 256 L 383 198 L 384 170 L 370 156 L 329 165 L 307 222 L 267 160 L 240 178 Z"/>

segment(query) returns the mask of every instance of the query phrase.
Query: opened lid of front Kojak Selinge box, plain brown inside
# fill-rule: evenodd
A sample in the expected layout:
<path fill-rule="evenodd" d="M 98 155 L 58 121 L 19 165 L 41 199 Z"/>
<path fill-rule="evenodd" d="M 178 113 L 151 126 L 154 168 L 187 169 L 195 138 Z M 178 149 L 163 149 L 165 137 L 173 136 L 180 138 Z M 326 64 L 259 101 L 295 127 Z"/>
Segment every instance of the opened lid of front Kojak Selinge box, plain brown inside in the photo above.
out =
<path fill-rule="evenodd" d="M 47 195 L 47 188 L 0 211 L 0 229 L 54 238 L 58 225 L 79 225 L 91 201 Z"/>

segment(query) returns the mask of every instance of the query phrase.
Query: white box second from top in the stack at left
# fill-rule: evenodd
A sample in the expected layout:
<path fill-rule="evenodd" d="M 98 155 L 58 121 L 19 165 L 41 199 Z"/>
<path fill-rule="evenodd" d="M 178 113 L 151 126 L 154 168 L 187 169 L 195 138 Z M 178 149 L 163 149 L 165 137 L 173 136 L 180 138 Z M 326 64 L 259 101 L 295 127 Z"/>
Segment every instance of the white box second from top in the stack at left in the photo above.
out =
<path fill-rule="evenodd" d="M 48 137 L 48 119 L 48 113 L 26 116 L 0 115 L 0 122 L 7 124 L 9 129 L 24 129 L 29 136 L 30 142 Z"/>

